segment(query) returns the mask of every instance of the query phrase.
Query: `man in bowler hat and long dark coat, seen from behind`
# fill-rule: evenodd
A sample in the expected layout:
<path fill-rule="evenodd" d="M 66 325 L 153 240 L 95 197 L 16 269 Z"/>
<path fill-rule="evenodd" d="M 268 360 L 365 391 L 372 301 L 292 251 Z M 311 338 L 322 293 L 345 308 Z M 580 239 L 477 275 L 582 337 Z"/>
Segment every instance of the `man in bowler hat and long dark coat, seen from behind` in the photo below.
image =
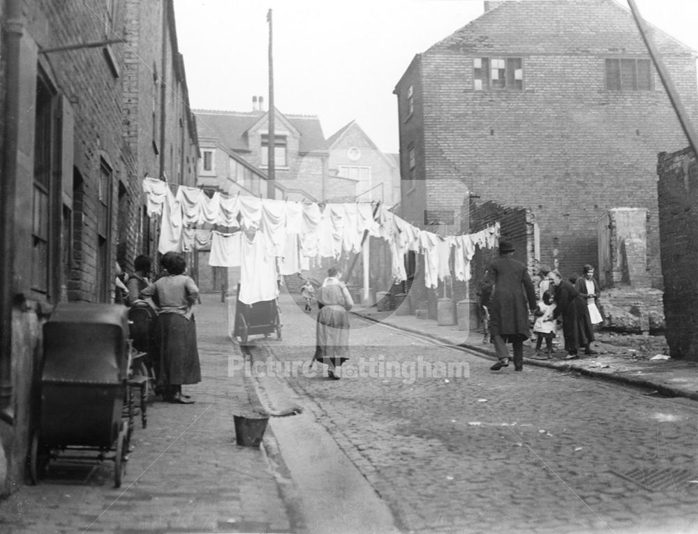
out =
<path fill-rule="evenodd" d="M 513 346 L 514 369 L 523 370 L 523 341 L 530 337 L 528 312 L 534 311 L 536 306 L 533 281 L 526 265 L 514 260 L 514 250 L 510 242 L 501 241 L 499 258 L 489 267 L 489 281 L 494 285 L 489 329 L 499 358 L 490 367 L 492 371 L 509 366 L 507 343 Z"/>

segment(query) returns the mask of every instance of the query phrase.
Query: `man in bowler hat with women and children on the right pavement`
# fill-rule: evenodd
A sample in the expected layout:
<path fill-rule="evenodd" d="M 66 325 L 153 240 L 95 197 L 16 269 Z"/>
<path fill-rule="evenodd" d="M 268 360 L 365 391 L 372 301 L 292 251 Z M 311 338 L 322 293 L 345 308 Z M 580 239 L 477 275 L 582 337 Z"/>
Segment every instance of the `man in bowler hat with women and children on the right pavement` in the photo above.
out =
<path fill-rule="evenodd" d="M 500 242 L 500 257 L 489 266 L 480 295 L 480 304 L 485 306 L 484 313 L 489 318 L 489 336 L 498 357 L 491 369 L 499 371 L 509 365 L 507 343 L 511 343 L 514 370 L 523 370 L 523 342 L 530 338 L 529 313 L 536 316 L 533 332 L 537 335 L 537 355 L 545 340 L 547 357 L 551 356 L 560 321 L 567 352 L 565 359 L 579 357 L 581 349 L 587 355 L 595 354 L 591 348 L 593 325 L 603 319 L 598 308 L 600 288 L 594 279 L 593 266 L 584 266 L 584 276 L 574 275 L 565 280 L 557 270 L 542 265 L 540 299 L 537 299 L 528 268 L 513 258 L 514 251 L 510 242 Z"/>

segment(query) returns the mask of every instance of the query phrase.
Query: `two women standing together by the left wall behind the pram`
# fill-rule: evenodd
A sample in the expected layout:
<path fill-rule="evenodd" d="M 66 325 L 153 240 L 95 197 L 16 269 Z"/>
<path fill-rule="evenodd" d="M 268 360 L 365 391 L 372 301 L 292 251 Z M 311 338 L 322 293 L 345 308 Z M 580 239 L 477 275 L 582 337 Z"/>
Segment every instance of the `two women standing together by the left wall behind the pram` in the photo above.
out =
<path fill-rule="evenodd" d="M 140 255 L 135 259 L 134 272 L 125 281 L 128 299 L 124 303 L 131 307 L 129 315 L 139 318 L 135 328 L 144 334 L 139 348 L 147 350 L 156 394 L 164 401 L 191 404 L 194 401 L 181 387 L 201 381 L 193 312 L 199 289 L 185 274 L 183 255 L 165 253 L 160 265 L 160 274 L 151 281 L 151 258 Z"/>

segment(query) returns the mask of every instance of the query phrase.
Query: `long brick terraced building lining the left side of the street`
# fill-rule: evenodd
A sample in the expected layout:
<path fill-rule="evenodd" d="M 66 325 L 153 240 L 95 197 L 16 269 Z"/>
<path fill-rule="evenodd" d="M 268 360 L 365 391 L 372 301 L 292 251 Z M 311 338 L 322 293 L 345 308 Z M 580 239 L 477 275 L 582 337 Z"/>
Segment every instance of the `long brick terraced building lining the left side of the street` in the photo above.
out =
<path fill-rule="evenodd" d="M 0 20 L 7 494 L 24 477 L 43 322 L 59 302 L 112 301 L 117 260 L 154 253 L 142 176 L 195 184 L 198 147 L 171 0 L 6 0 Z"/>

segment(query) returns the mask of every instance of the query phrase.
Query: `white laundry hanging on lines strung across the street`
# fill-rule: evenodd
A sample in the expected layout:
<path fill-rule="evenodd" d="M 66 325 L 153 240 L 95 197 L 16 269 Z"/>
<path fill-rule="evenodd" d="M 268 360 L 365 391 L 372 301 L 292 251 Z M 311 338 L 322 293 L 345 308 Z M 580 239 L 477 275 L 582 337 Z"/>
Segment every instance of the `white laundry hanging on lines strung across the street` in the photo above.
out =
<path fill-rule="evenodd" d="M 246 304 L 269 300 L 260 297 L 268 297 L 272 285 L 276 288 L 277 272 L 296 274 L 308 270 L 313 258 L 338 259 L 342 252 L 359 253 L 364 231 L 389 244 L 395 281 L 407 279 L 404 256 L 408 252 L 423 254 L 424 283 L 429 288 L 436 288 L 448 276 L 470 280 L 476 247 L 494 248 L 500 236 L 500 225 L 495 223 L 475 234 L 443 237 L 417 228 L 383 205 L 378 205 L 374 217 L 368 203 L 327 203 L 320 209 L 315 202 L 217 192 L 209 197 L 202 189 L 186 186 L 174 193 L 167 182 L 150 177 L 143 179 L 143 191 L 147 214 L 161 217 L 158 251 L 210 247 L 209 265 L 242 268 L 240 300 Z M 230 231 L 196 228 L 204 224 Z M 452 253 L 454 273 L 450 271 Z"/>

